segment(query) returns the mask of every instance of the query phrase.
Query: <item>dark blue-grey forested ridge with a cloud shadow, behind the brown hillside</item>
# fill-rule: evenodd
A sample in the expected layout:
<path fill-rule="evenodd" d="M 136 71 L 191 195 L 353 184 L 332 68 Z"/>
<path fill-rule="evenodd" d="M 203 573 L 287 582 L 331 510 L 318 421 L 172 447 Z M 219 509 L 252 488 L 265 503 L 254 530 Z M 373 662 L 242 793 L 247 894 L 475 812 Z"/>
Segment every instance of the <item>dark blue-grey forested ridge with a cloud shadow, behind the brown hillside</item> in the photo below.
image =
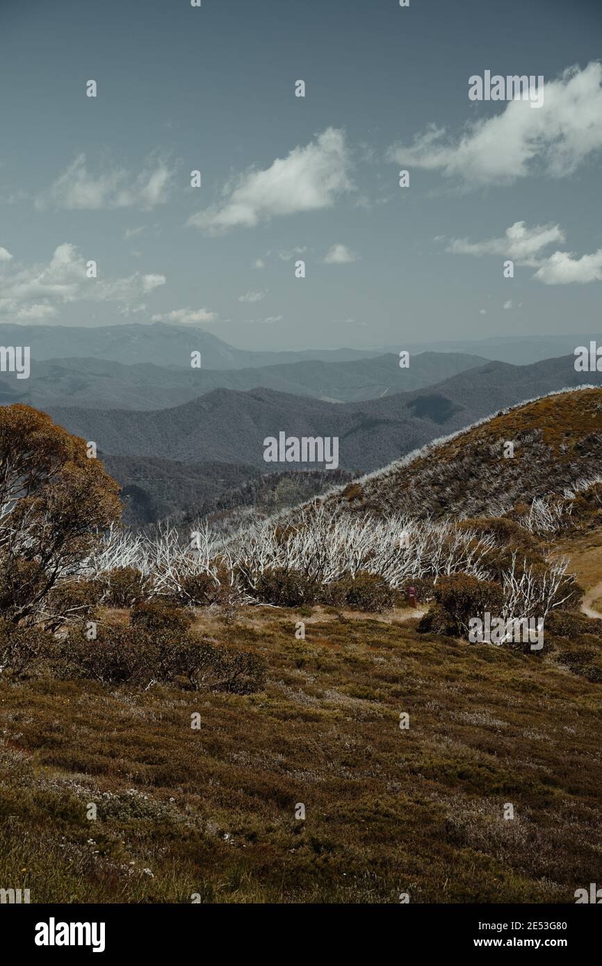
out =
<path fill-rule="evenodd" d="M 505 406 L 564 386 L 601 384 L 602 373 L 577 373 L 573 356 L 528 366 L 489 362 L 413 392 L 334 405 L 253 389 L 229 389 L 154 412 L 50 407 L 56 422 L 99 449 L 122 456 L 185 463 L 221 461 L 263 469 L 264 439 L 336 436 L 342 469 L 378 469 L 425 442 L 461 429 Z M 301 466 L 297 469 L 321 469 Z"/>

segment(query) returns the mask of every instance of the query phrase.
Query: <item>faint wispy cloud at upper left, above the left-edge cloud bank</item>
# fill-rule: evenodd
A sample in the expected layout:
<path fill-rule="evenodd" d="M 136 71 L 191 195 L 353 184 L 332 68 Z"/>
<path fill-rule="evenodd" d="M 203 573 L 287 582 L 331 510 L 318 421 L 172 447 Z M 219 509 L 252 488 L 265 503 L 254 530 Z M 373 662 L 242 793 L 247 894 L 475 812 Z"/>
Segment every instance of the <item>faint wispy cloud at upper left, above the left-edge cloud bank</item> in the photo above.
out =
<path fill-rule="evenodd" d="M 122 168 L 92 174 L 86 156 L 82 154 L 38 196 L 36 208 L 69 211 L 139 208 L 149 211 L 167 201 L 172 175 L 168 164 L 156 156 L 147 158 L 137 175 Z"/>

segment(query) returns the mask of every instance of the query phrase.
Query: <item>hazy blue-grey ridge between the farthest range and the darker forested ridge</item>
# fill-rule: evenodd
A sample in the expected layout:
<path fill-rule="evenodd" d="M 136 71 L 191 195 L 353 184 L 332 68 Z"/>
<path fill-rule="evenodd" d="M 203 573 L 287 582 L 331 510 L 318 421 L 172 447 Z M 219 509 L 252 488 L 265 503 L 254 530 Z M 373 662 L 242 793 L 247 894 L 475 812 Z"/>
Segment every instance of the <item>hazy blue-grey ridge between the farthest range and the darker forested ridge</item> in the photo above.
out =
<path fill-rule="evenodd" d="M 439 383 L 484 361 L 477 355 L 422 353 L 400 368 L 399 355 L 352 361 L 307 359 L 246 369 L 192 369 L 150 362 L 124 365 L 96 358 L 34 360 L 27 380 L 0 374 L 0 403 L 36 409 L 158 410 L 190 402 L 217 388 L 265 387 L 330 402 L 358 402 Z"/>

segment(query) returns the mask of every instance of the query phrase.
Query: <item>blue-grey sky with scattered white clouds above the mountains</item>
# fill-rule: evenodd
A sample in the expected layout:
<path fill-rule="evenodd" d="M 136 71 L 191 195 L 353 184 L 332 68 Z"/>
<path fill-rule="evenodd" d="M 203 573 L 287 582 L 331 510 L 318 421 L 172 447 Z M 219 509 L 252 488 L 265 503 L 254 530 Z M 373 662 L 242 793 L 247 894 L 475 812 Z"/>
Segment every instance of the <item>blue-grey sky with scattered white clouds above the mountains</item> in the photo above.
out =
<path fill-rule="evenodd" d="M 0 322 L 595 333 L 601 41 L 599 0 L 0 0 Z"/>

